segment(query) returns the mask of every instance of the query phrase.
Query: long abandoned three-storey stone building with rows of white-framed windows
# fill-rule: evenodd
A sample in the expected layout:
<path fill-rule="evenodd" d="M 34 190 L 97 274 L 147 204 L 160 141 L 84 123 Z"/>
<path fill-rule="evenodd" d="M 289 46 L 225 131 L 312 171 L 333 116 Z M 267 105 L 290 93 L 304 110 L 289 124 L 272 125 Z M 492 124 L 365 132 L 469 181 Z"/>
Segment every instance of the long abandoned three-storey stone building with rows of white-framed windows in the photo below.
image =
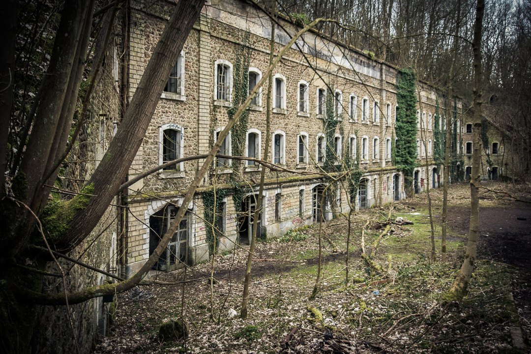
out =
<path fill-rule="evenodd" d="M 114 92 L 125 88 L 125 98 L 120 102 L 117 96 L 112 105 L 93 108 L 98 110 L 92 112 L 96 117 L 92 129 L 99 132 L 93 149 L 96 160 L 101 159 L 119 129 L 119 106 L 134 94 L 171 7 L 164 1 L 131 1 L 129 15 L 117 27 L 105 69 L 111 78 L 108 85 Z M 276 51 L 297 31 L 288 20 L 279 21 L 275 24 Z M 238 88 L 250 91 L 267 71 L 271 32 L 272 21 L 252 3 L 212 0 L 204 6 L 169 74 L 129 178 L 167 161 L 210 151 L 228 121 L 228 110 L 242 95 Z M 370 208 L 405 197 L 404 175 L 392 164 L 397 77 L 397 68 L 316 31 L 306 32 L 287 51 L 273 71 L 268 157 L 284 170 L 266 171 L 259 236 L 279 236 L 350 208 Z M 442 126 L 444 119 L 441 114 L 436 116 L 442 93 L 424 82 L 417 84 L 417 91 L 417 167 L 413 180 L 418 193 L 427 184 L 430 188 L 441 184 L 440 166 L 433 158 L 434 131 L 436 122 Z M 459 117 L 462 105 L 458 99 Z M 221 154 L 264 156 L 266 107 L 267 83 L 247 109 L 243 131 L 231 131 L 222 143 Z M 333 131 L 324 129 L 329 120 L 335 122 Z M 468 131 L 462 135 L 466 134 Z M 464 144 L 468 149 L 468 143 Z M 500 153 L 501 142 L 494 148 Z M 352 186 L 336 178 L 348 169 L 346 158 L 362 172 L 355 195 Z M 117 204 L 126 207 L 116 212 L 117 234 L 113 233 L 113 249 L 119 256 L 112 257 L 110 269 L 120 269 L 126 276 L 141 267 L 178 210 L 201 163 L 190 160 L 160 170 L 121 196 Z M 335 172 L 327 176 L 324 172 L 330 166 Z M 261 168 L 252 160 L 218 158 L 157 268 L 172 270 L 182 263 L 207 260 L 212 223 L 215 231 L 211 232 L 219 236 L 218 251 L 249 242 Z M 496 173 L 491 167 L 491 176 Z M 207 196 L 214 189 L 220 200 L 212 204 Z M 323 195 L 327 196 L 324 202 Z M 216 211 L 213 222 L 208 222 L 205 210 Z"/>

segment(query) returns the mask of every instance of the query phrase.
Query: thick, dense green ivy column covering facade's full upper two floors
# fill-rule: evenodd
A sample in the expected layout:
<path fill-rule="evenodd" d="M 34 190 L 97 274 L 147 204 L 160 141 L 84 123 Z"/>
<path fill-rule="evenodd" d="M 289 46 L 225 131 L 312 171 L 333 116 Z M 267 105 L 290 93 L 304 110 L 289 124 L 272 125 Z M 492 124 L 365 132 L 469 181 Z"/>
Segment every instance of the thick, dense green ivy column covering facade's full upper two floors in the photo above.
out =
<path fill-rule="evenodd" d="M 395 164 L 397 170 L 404 173 L 406 191 L 413 186 L 413 170 L 416 166 L 416 75 L 411 68 L 401 69 L 397 78 Z"/>

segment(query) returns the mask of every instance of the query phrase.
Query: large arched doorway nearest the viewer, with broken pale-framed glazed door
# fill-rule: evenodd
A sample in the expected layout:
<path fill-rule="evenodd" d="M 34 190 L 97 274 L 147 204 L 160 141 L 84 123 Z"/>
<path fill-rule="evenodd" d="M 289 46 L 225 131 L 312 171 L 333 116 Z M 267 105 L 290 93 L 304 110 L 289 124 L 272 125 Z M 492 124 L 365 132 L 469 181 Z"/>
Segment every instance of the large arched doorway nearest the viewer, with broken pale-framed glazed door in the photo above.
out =
<path fill-rule="evenodd" d="M 167 205 L 149 217 L 149 254 L 151 255 L 159 245 L 170 223 L 175 219 L 179 208 L 175 205 Z M 190 235 L 190 212 L 186 211 L 172 239 L 162 252 L 153 269 L 172 271 L 188 261 L 188 235 Z"/>

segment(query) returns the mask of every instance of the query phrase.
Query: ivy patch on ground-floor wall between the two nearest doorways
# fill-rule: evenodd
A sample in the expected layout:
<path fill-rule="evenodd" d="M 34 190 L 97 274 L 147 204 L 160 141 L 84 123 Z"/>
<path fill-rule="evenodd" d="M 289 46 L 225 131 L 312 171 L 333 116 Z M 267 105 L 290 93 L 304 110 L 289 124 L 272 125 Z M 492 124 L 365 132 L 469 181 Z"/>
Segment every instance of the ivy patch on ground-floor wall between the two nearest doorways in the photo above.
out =
<path fill-rule="evenodd" d="M 230 189 L 210 189 L 203 193 L 204 220 L 207 224 L 208 252 L 212 255 L 218 249 L 219 239 L 223 237 L 223 230 L 216 225 L 219 218 L 223 218 L 223 200 L 229 194 Z M 214 226 L 214 227 L 212 227 Z"/>

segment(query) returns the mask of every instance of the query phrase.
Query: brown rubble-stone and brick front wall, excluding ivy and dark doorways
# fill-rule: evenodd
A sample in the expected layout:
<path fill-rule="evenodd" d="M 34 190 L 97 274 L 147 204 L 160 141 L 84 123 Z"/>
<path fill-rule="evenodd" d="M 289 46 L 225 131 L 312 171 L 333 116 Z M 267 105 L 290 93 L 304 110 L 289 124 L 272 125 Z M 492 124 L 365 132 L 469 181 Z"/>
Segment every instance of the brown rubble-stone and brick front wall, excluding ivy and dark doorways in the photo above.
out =
<path fill-rule="evenodd" d="M 164 2 L 153 5 L 133 1 L 130 11 L 129 62 L 125 63 L 129 67 L 129 96 L 135 92 L 162 33 L 170 6 Z M 232 106 L 235 94 L 232 90 L 236 63 L 238 57 L 242 59 L 242 45 L 250 48 L 250 71 L 259 79 L 268 69 L 271 31 L 271 22 L 264 20 L 259 8 L 252 4 L 233 0 L 211 1 L 205 6 L 176 65 L 174 74 L 178 78 L 174 82 L 178 88 L 167 88 L 168 91 L 162 93 L 152 123 L 131 166 L 130 177 L 164 162 L 165 129 L 172 131 L 176 137 L 174 139 L 178 139 L 178 143 L 170 142 L 175 143 L 175 150 L 178 150 L 176 155 L 172 155 L 174 157 L 193 156 L 210 150 L 216 132 L 228 122 L 227 110 Z M 296 31 L 293 24 L 285 21 L 282 22 L 282 28 L 277 25 L 275 50 L 287 44 L 290 34 Z M 225 76 L 221 77 L 220 74 Z M 332 106 L 335 107 L 338 120 L 334 132 L 337 140 L 334 142 L 340 146 L 326 146 L 324 149 L 339 149 L 336 151 L 338 154 L 353 153 L 353 158 L 358 160 L 364 171 L 361 183 L 363 192 L 358 192 L 364 195 L 355 198 L 353 207 L 369 208 L 405 196 L 404 176 L 392 166 L 390 151 L 391 140 L 395 136 L 396 68 L 311 31 L 284 55 L 273 71 L 273 78 L 273 95 L 276 97 L 273 98 L 272 143 L 268 160 L 288 170 L 304 171 L 309 175 L 267 171 L 261 216 L 262 234 L 279 236 L 290 228 L 314 222 L 318 218 L 315 212 L 316 196 L 323 189 L 329 195 L 324 206 L 326 218 L 347 212 L 350 208 L 348 188 L 342 183 L 331 184 L 329 178 L 319 175 L 323 163 L 319 156 L 318 139 L 324 134 L 322 110 L 326 108 L 320 105 L 320 92 L 329 92 L 334 101 Z M 301 84 L 307 85 L 307 93 L 302 94 L 303 99 Z M 221 92 L 224 90 L 226 92 Z M 431 183 L 430 187 L 440 184 L 438 176 L 433 174 L 436 166 L 432 148 L 433 117 L 439 92 L 425 83 L 420 84 L 418 90 L 421 97 L 418 103 L 419 116 L 424 120 L 418 127 L 417 139 L 428 145 L 427 150 L 419 149 L 418 175 L 415 175 L 417 191 L 421 191 L 427 183 Z M 255 141 L 251 144 L 256 146 L 253 154 L 259 158 L 263 158 L 266 141 L 266 92 L 267 84 L 249 108 L 247 123 L 248 133 L 256 134 L 252 136 Z M 458 110 L 461 110 L 460 101 Z M 298 153 L 301 148 L 299 136 L 303 136 L 302 157 Z M 245 153 L 250 151 L 249 137 L 246 141 Z M 275 153 L 275 143 L 278 143 L 277 160 L 271 157 L 271 153 Z M 227 154 L 234 148 L 233 145 L 227 144 Z M 424 146 L 422 142 L 419 145 Z M 129 216 L 125 224 L 127 273 L 138 270 L 147 260 L 150 242 L 153 246 L 157 241 L 153 224 L 157 224 L 156 228 L 167 225 L 162 219 L 170 217 L 172 208 L 178 208 L 183 192 L 201 163 L 201 160 L 187 161 L 132 186 L 127 197 Z M 206 229 L 209 225 L 204 221 L 202 192 L 208 191 L 213 184 L 217 188 L 228 188 L 237 180 L 247 195 L 253 195 L 258 193 L 255 181 L 260 178 L 259 171 L 256 166 L 244 166 L 238 171 L 227 167 L 217 168 L 216 171 L 212 169 L 196 194 L 189 216 L 183 221 L 186 239 L 177 241 L 178 245 L 171 252 L 179 252 L 179 247 L 186 247 L 181 256 L 187 263 L 207 260 Z M 232 195 L 225 197 L 223 220 L 220 223 L 225 237 L 220 240 L 220 250 L 233 248 L 237 242 L 245 242 L 245 233 L 250 232 L 250 227 L 244 224 L 251 221 L 251 204 L 244 198 L 242 205 L 234 205 Z M 238 210 L 241 212 L 238 213 Z M 161 269 L 167 268 L 162 266 Z"/>

